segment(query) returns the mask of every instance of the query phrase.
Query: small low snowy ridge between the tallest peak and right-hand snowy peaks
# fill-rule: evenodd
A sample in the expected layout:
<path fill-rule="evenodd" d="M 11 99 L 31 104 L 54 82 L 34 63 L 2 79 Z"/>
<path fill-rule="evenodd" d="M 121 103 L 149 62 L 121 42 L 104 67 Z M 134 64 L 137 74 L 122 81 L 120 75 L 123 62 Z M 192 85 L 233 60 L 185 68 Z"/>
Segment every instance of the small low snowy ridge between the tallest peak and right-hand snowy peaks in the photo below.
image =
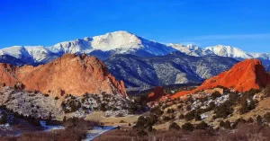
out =
<path fill-rule="evenodd" d="M 181 52 L 183 52 L 185 55 L 194 56 L 194 57 L 202 57 L 206 55 L 213 55 L 214 53 L 205 48 L 200 48 L 196 45 L 189 44 L 189 45 L 183 45 L 183 44 L 172 44 L 169 43 L 167 46 L 170 46 L 172 48 L 175 48 Z"/>

